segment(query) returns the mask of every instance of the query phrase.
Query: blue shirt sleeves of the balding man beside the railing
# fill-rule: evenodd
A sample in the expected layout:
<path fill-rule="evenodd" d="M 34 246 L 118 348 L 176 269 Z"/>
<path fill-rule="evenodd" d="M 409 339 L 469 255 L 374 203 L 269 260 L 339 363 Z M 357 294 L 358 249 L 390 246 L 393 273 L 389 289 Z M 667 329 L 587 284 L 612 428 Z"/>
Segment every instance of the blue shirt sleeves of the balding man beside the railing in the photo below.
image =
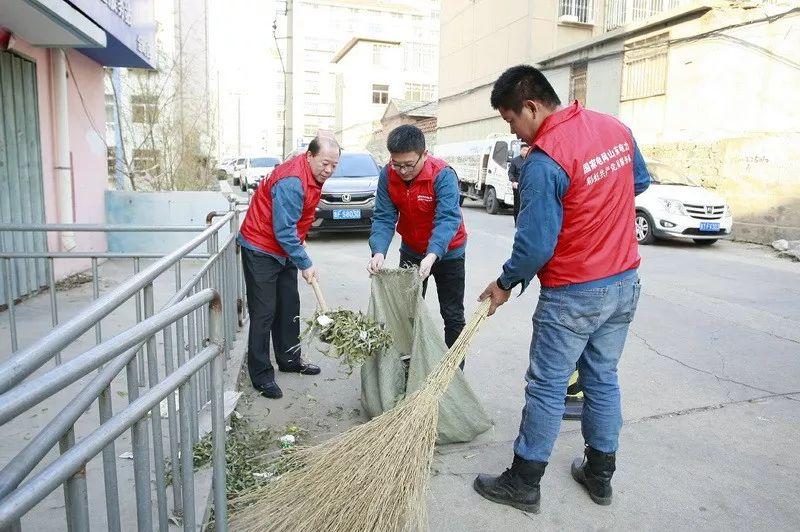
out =
<path fill-rule="evenodd" d="M 275 239 L 286 254 L 289 255 L 289 259 L 294 265 L 300 270 L 306 270 L 312 265 L 311 258 L 306 253 L 303 243 L 300 242 L 300 237 L 297 236 L 297 222 L 300 221 L 300 216 L 303 213 L 303 201 L 305 199 L 300 178 L 290 176 L 279 179 L 272 185 L 270 192 L 272 194 L 272 231 L 275 233 Z M 247 241 L 241 233 L 237 241 L 244 248 L 257 253 L 264 253 L 281 264 L 286 264 L 286 257 L 264 251 Z"/>

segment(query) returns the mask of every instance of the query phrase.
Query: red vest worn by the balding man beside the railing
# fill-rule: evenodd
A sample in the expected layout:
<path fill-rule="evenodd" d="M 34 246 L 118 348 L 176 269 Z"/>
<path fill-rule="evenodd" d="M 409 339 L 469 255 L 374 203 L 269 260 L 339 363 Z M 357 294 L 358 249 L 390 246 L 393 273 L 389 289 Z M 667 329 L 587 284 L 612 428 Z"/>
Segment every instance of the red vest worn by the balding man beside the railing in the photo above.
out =
<path fill-rule="evenodd" d="M 240 229 L 245 240 L 257 248 L 279 257 L 286 257 L 287 253 L 278 243 L 272 230 L 272 187 L 286 177 L 299 177 L 303 186 L 303 211 L 297 222 L 297 236 L 300 237 L 301 242 L 305 241 L 311 224 L 314 222 L 314 213 L 322 193 L 322 185 L 314 179 L 305 153 L 276 166 L 269 179 L 258 185 Z"/>

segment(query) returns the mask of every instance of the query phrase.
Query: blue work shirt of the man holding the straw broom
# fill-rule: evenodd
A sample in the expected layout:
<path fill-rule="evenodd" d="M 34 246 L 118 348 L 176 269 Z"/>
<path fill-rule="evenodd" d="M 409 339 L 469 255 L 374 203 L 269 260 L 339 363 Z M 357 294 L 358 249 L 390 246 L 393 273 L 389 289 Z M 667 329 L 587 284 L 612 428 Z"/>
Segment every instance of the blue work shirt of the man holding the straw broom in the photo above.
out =
<path fill-rule="evenodd" d="M 650 174 L 636 141 L 633 143 L 633 189 L 638 196 L 650 186 Z M 536 186 L 534 186 L 536 183 Z M 552 258 L 564 221 L 561 200 L 569 189 L 567 173 L 549 155 L 536 149 L 528 154 L 519 180 L 520 212 L 511 258 L 503 265 L 498 284 L 522 290 Z M 633 231 L 633 228 L 631 228 Z M 581 286 L 608 286 L 629 275 L 628 272 L 580 283 Z"/>

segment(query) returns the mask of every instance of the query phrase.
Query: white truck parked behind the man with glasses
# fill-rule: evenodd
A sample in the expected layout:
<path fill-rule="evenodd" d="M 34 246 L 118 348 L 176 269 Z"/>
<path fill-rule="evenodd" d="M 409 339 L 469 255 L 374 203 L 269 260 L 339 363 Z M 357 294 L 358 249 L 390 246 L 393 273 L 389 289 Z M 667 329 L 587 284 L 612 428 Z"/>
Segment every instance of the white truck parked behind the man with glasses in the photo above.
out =
<path fill-rule="evenodd" d="M 497 214 L 503 206 L 514 206 L 508 163 L 519 155 L 521 144 L 516 136 L 492 134 L 485 140 L 439 144 L 433 155 L 458 174 L 462 203 L 464 198 L 478 200 L 486 212 Z"/>

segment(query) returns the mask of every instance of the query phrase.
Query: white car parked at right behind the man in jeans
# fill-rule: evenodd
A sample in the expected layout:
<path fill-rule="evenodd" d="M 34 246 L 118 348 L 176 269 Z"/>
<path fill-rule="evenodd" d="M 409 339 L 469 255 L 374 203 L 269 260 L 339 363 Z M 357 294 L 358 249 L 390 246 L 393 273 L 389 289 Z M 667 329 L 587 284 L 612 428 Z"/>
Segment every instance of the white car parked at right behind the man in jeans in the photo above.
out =
<path fill-rule="evenodd" d="M 636 196 L 636 239 L 693 240 L 710 246 L 730 238 L 733 216 L 725 198 L 660 162 L 647 161 L 650 187 Z"/>

